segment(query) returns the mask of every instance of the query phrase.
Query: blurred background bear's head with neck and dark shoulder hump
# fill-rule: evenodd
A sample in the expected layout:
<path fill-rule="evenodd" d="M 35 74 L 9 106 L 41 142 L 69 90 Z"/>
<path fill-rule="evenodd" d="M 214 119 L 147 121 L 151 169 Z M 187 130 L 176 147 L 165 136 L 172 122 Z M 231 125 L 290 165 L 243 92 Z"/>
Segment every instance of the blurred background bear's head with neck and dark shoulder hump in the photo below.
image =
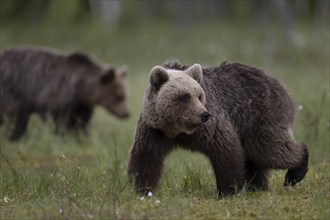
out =
<path fill-rule="evenodd" d="M 129 116 L 127 100 L 127 68 L 104 65 L 82 53 L 69 56 L 75 71 L 80 71 L 79 99 L 87 105 L 103 106 L 119 118 Z"/>

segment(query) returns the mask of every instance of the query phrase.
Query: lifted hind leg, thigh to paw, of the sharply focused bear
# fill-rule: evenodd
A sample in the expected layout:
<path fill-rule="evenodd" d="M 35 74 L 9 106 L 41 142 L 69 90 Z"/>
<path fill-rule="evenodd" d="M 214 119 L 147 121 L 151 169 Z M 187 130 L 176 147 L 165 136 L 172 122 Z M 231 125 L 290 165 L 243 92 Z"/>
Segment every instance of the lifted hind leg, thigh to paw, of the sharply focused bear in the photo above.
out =
<path fill-rule="evenodd" d="M 301 181 L 308 170 L 308 149 L 295 141 L 291 128 L 259 127 L 245 140 L 247 157 L 264 169 L 289 169 L 284 186 Z M 253 147 L 250 147 L 253 146 Z"/>

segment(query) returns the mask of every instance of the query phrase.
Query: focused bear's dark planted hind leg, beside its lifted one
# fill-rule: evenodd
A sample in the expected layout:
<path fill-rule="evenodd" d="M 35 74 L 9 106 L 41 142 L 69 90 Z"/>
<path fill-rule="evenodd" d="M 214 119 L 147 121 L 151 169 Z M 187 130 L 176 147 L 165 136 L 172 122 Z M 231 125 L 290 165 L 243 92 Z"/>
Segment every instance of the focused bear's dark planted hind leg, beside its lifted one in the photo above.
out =
<path fill-rule="evenodd" d="M 268 191 L 269 170 L 262 169 L 252 161 L 247 161 L 245 164 L 246 182 L 249 191 Z"/>

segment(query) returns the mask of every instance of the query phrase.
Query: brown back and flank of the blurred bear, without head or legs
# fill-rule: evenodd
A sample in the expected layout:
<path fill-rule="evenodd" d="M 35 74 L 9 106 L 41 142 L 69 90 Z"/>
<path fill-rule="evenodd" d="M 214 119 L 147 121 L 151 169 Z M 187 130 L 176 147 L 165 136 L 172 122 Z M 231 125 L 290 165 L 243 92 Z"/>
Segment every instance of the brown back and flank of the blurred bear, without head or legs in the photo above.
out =
<path fill-rule="evenodd" d="M 4 106 L 38 110 L 49 102 L 68 103 L 75 96 L 74 84 L 82 77 L 74 71 L 81 68 L 71 65 L 68 56 L 55 49 L 19 46 L 5 50 L 0 60 Z"/>

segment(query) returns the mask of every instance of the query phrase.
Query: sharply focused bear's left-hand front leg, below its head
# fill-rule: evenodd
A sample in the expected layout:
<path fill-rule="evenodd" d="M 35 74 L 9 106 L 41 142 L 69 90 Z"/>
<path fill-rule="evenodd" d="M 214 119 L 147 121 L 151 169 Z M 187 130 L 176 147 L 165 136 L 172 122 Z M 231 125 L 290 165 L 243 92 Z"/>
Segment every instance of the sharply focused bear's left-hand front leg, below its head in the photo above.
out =
<path fill-rule="evenodd" d="M 136 192 L 147 194 L 155 190 L 165 157 L 172 148 L 173 141 L 139 119 L 128 162 L 128 175 Z"/>

